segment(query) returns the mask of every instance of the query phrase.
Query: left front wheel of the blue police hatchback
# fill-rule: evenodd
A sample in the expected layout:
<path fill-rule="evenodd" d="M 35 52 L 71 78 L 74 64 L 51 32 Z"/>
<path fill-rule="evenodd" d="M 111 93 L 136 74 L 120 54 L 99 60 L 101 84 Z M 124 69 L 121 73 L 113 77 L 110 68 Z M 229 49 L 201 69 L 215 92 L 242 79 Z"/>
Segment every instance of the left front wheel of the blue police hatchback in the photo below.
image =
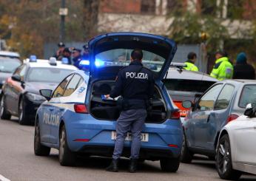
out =
<path fill-rule="evenodd" d="M 34 153 L 36 156 L 48 156 L 50 154 L 50 147 L 41 144 L 39 123 L 36 121 L 35 135 L 34 135 Z"/>

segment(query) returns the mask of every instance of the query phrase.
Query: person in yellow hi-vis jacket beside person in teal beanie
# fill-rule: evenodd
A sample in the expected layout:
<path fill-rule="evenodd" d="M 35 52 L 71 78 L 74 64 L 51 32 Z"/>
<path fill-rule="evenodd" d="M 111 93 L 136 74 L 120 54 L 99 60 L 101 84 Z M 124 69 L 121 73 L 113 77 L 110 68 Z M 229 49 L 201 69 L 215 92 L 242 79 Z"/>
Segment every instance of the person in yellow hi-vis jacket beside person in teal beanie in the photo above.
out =
<path fill-rule="evenodd" d="M 217 78 L 219 81 L 223 81 L 233 76 L 233 66 L 227 58 L 227 54 L 224 51 L 218 51 L 215 53 L 215 66 L 212 69 L 211 76 Z"/>

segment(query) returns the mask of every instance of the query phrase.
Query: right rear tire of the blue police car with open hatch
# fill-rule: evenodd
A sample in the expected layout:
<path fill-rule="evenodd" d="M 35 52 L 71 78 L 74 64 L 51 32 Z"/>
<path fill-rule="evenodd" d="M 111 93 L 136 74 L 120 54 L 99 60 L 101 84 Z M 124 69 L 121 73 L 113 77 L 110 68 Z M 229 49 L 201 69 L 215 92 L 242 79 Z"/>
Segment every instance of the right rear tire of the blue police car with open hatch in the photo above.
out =
<path fill-rule="evenodd" d="M 163 158 L 160 160 L 161 170 L 168 172 L 176 172 L 180 166 L 181 157 Z"/>

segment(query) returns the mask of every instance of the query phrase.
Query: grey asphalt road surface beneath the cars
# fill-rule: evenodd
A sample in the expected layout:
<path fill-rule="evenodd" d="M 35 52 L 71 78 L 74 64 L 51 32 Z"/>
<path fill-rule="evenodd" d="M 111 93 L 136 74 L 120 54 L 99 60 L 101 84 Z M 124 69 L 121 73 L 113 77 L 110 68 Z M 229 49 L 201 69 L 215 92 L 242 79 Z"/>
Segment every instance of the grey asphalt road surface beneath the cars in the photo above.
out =
<path fill-rule="evenodd" d="M 128 160 L 121 160 L 118 173 L 105 171 L 110 159 L 91 157 L 80 159 L 76 167 L 58 163 L 58 151 L 52 149 L 49 157 L 33 153 L 33 126 L 20 126 L 16 119 L 0 120 L 0 180 L 220 180 L 213 161 L 197 157 L 192 164 L 181 164 L 177 173 L 164 173 L 159 162 L 140 164 L 138 173 L 127 172 Z M 240 180 L 256 180 L 243 175 Z"/>

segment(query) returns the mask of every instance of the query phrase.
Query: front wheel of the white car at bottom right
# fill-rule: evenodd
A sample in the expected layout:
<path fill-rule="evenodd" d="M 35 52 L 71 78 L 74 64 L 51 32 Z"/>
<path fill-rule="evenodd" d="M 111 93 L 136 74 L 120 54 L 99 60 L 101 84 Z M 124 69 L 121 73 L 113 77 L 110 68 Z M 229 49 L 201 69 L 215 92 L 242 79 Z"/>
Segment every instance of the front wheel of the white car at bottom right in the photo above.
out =
<path fill-rule="evenodd" d="M 216 167 L 221 179 L 238 180 L 242 174 L 232 168 L 232 156 L 229 142 L 229 135 L 220 137 L 217 149 Z"/>

